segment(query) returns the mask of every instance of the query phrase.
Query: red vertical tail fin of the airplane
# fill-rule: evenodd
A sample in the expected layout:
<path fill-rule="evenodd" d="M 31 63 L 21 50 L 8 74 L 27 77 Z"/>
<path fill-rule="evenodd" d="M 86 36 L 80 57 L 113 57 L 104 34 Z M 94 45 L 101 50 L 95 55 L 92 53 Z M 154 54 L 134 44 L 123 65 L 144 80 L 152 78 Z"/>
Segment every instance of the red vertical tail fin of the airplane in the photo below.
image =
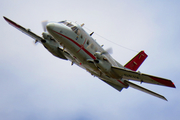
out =
<path fill-rule="evenodd" d="M 144 51 L 141 51 L 133 59 L 131 59 L 124 67 L 136 71 L 147 58 L 147 56 L 148 55 Z"/>

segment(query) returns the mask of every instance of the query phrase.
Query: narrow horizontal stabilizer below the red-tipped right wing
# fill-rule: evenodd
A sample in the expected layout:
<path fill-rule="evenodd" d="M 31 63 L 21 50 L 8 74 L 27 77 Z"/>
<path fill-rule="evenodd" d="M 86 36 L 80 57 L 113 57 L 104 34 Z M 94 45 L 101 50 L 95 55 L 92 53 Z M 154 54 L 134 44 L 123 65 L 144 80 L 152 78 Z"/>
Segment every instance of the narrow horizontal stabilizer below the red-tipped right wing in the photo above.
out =
<path fill-rule="evenodd" d="M 167 99 L 166 99 L 164 96 L 162 96 L 162 95 L 160 95 L 160 94 L 158 94 L 158 93 L 155 93 L 155 92 L 153 92 L 153 91 L 151 91 L 151 90 L 148 90 L 148 89 L 146 89 L 146 88 L 143 88 L 143 87 L 141 87 L 141 86 L 138 86 L 138 85 L 136 85 L 136 84 L 134 84 L 134 83 L 132 83 L 132 82 L 129 82 L 129 81 L 126 81 L 126 83 L 127 83 L 130 87 L 132 87 L 132 88 L 134 88 L 134 89 L 140 90 L 140 91 L 142 91 L 142 92 L 148 93 L 148 94 L 150 94 L 150 95 L 153 95 L 153 96 L 155 96 L 155 97 L 158 97 L 158 98 L 161 98 L 161 99 L 167 101 Z"/>

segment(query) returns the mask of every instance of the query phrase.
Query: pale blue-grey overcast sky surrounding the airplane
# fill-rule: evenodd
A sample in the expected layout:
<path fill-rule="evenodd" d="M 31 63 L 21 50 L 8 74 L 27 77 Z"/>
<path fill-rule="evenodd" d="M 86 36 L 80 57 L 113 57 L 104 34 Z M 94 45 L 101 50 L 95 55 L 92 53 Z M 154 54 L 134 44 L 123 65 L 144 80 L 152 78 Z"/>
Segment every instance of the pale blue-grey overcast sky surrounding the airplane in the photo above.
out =
<path fill-rule="evenodd" d="M 1 120 L 177 120 L 180 118 L 179 0 L 1 0 Z M 139 71 L 171 79 L 176 89 L 142 84 L 168 102 L 133 88 L 116 91 L 76 65 L 52 56 L 8 25 L 6 16 L 41 35 L 41 21 L 85 23 L 121 64 L 149 55 Z M 128 50 L 115 45 L 100 36 Z M 137 83 L 140 84 L 140 83 Z"/>

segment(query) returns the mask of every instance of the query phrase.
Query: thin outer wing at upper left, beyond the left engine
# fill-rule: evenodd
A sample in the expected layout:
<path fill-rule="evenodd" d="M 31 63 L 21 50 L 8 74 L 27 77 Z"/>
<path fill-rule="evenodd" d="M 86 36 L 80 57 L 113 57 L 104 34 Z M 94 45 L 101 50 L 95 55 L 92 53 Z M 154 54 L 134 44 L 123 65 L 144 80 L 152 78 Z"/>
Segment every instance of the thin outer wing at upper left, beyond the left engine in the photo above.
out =
<path fill-rule="evenodd" d="M 22 26 L 20 26 L 19 24 L 13 22 L 12 20 L 4 17 L 4 19 L 13 27 L 17 28 L 18 30 L 20 30 L 21 32 L 25 33 L 26 35 L 30 36 L 31 38 L 35 39 L 38 42 L 42 42 L 44 41 L 44 39 L 38 35 L 36 35 L 35 33 L 31 32 L 30 29 L 26 29 Z"/>

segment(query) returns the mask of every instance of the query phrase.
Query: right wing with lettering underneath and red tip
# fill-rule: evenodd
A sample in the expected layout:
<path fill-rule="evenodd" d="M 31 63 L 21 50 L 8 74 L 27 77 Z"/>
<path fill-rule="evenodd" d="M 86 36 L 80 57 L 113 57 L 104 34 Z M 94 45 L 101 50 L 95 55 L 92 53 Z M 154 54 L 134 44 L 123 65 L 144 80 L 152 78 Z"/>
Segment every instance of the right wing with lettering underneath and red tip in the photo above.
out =
<path fill-rule="evenodd" d="M 175 88 L 174 83 L 171 80 L 160 78 L 152 75 L 147 75 L 123 68 L 112 67 L 112 70 L 119 75 L 119 77 L 128 79 L 128 80 L 135 80 L 139 82 L 151 83 L 156 85 L 162 85 L 167 87 Z"/>

